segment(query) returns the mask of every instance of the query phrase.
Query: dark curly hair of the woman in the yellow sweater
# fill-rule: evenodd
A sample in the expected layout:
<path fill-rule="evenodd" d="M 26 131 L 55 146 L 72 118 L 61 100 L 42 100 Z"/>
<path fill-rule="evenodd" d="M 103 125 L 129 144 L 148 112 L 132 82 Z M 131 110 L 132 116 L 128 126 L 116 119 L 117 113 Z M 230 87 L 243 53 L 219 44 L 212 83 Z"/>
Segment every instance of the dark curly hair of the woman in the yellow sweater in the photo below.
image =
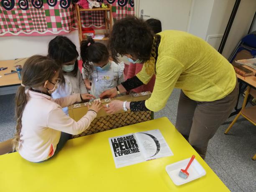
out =
<path fill-rule="evenodd" d="M 154 33 L 145 21 L 127 17 L 113 25 L 108 46 L 115 62 L 119 54 L 130 54 L 145 62 L 150 59 L 153 39 Z"/>

